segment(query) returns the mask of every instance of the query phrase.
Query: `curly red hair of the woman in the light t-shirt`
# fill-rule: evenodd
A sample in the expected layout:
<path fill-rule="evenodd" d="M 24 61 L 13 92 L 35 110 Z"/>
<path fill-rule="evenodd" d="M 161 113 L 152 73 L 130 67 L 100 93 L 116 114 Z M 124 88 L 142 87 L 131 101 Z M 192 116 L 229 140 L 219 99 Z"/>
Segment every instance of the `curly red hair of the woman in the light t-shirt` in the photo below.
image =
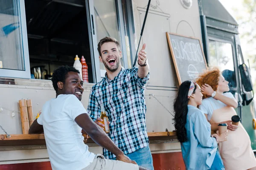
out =
<path fill-rule="evenodd" d="M 212 87 L 214 91 L 217 91 L 220 75 L 221 75 L 220 69 L 217 67 L 214 67 L 200 74 L 195 81 L 198 85 L 200 85 L 200 87 L 204 84 L 208 84 Z M 204 94 L 203 99 L 208 97 L 210 96 L 207 96 Z"/>

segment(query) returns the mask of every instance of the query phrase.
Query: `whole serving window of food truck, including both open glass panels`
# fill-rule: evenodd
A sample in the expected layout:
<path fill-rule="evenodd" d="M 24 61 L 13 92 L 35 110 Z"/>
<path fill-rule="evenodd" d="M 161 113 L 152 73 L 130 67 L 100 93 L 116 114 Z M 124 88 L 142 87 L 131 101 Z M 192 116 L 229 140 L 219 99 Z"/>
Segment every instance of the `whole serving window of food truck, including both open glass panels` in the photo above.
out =
<path fill-rule="evenodd" d="M 86 60 L 89 82 L 98 82 L 105 67 L 96 49 L 106 36 L 120 42 L 122 66 L 131 68 L 124 17 L 121 0 L 1 1 L 0 77 L 51 79 L 78 55 Z"/>

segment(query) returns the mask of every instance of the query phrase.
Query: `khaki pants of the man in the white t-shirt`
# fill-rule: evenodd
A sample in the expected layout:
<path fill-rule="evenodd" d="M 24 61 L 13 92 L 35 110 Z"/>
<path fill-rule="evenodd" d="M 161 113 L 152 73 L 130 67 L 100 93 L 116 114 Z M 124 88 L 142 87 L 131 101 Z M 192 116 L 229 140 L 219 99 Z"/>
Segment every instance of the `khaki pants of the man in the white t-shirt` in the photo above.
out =
<path fill-rule="evenodd" d="M 105 159 L 103 155 L 97 154 L 93 162 L 82 170 L 139 170 L 139 167 L 137 164 Z"/>

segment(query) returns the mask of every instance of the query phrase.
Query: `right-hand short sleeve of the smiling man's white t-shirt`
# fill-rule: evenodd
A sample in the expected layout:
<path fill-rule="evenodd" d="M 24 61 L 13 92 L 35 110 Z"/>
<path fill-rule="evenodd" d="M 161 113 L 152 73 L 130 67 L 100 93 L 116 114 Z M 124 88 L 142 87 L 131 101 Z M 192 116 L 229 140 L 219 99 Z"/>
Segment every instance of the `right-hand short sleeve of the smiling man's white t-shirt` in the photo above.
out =
<path fill-rule="evenodd" d="M 63 111 L 66 112 L 73 120 L 75 120 L 80 114 L 87 113 L 82 103 L 73 94 L 70 94 L 65 100 Z"/>

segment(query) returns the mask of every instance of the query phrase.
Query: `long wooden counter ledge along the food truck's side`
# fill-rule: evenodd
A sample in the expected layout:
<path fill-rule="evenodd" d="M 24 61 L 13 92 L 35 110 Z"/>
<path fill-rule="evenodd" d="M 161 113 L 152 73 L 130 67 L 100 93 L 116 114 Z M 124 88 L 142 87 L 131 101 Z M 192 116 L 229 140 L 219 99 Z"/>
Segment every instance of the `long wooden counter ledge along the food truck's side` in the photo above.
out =
<path fill-rule="evenodd" d="M 148 132 L 149 140 L 176 139 L 176 132 Z M 94 143 L 89 137 L 86 143 Z M 44 134 L 14 134 L 11 138 L 0 135 L 0 146 L 43 145 Z"/>

